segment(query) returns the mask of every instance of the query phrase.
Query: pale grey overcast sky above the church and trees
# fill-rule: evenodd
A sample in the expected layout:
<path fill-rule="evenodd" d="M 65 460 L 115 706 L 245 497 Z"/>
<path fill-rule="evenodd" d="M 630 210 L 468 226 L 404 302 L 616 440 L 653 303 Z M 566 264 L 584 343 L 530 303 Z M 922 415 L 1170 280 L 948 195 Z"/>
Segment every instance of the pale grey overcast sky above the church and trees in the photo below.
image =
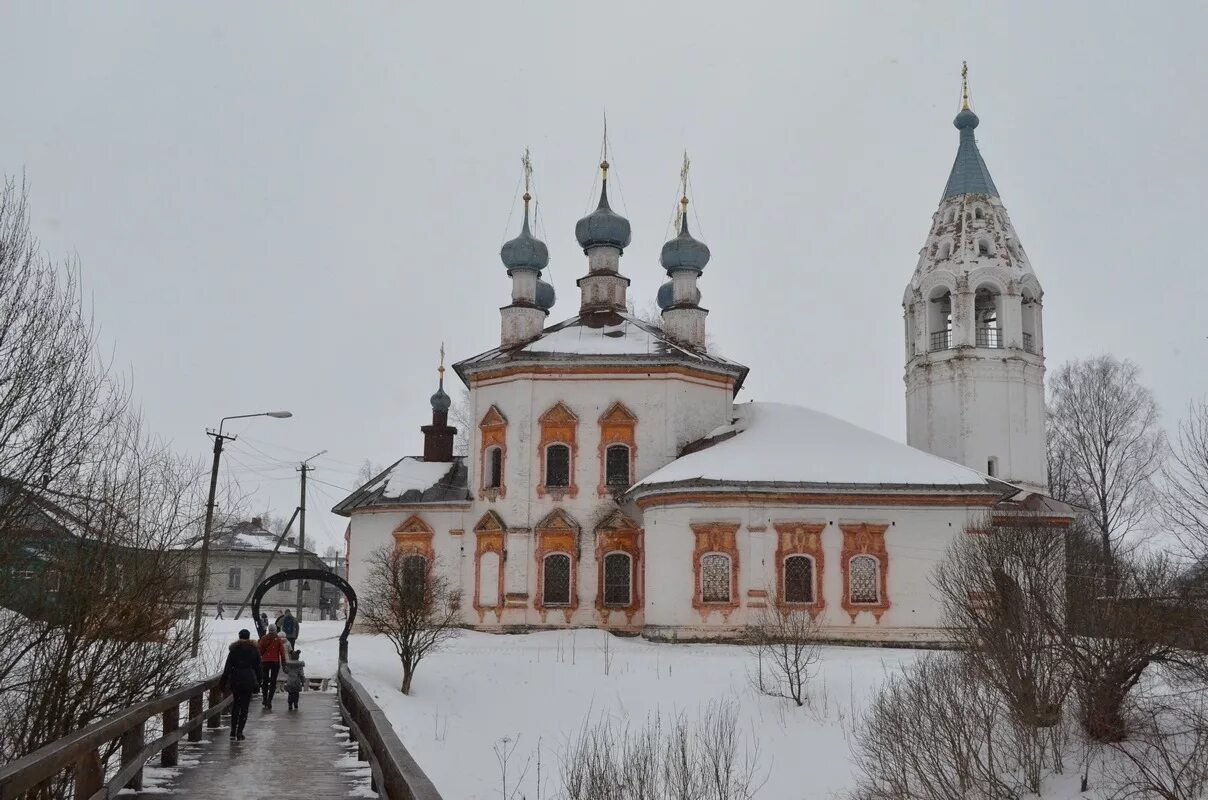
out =
<path fill-rule="evenodd" d="M 498 344 L 525 146 L 550 321 L 576 313 L 605 109 L 637 308 L 687 149 L 739 399 L 905 439 L 901 296 L 968 59 L 1050 370 L 1133 359 L 1169 422 L 1208 393 L 1206 8 L 10 1 L 0 172 L 29 180 L 46 249 L 79 257 L 155 430 L 202 454 L 226 415 L 295 413 L 236 424 L 225 462 L 288 515 L 288 462 L 329 451 L 310 504 L 330 508 L 362 459 L 420 452 L 442 340 L 454 360 Z"/>

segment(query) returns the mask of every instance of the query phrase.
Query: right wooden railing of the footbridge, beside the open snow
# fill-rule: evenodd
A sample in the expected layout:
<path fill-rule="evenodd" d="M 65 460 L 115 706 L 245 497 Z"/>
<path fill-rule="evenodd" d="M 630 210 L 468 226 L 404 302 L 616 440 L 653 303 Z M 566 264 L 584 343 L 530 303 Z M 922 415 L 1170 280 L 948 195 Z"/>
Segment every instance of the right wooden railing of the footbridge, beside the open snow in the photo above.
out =
<path fill-rule="evenodd" d="M 383 800 L 441 800 L 441 794 L 411 758 L 390 720 L 348 669 L 339 665 L 339 712 L 356 742 L 356 758 L 370 763 L 373 790 Z"/>

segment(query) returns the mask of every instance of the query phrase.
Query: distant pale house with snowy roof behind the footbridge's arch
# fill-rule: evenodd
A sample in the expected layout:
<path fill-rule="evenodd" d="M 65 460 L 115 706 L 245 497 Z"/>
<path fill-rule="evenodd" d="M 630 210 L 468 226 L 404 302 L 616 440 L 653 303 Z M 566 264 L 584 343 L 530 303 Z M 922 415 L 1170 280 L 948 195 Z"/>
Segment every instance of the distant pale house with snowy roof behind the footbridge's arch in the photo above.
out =
<path fill-rule="evenodd" d="M 265 528 L 263 520 L 252 517 L 246 522 L 237 522 L 232 526 L 214 531 L 210 538 L 209 558 L 209 585 L 205 591 L 205 603 L 211 607 L 219 601 L 226 605 L 226 616 L 233 616 L 239 605 L 248 599 L 249 593 L 265 575 L 265 563 L 280 534 Z M 199 551 L 194 551 L 193 558 L 199 558 Z M 199 564 L 194 564 L 192 573 L 196 574 Z M 298 566 L 297 539 L 288 537 L 273 556 L 268 566 L 269 574 L 295 569 Z M 302 566 L 306 569 L 327 569 L 323 560 L 310 550 L 303 550 Z M 319 618 L 320 598 L 323 591 L 315 581 L 304 581 L 302 585 L 302 609 L 303 615 L 314 619 Z M 274 619 L 281 610 L 295 607 L 297 598 L 297 585 L 294 581 L 285 581 L 273 586 L 261 601 L 262 609 L 268 614 L 269 620 Z M 245 611 L 246 614 L 246 611 Z M 214 615 L 214 611 L 210 611 Z"/>

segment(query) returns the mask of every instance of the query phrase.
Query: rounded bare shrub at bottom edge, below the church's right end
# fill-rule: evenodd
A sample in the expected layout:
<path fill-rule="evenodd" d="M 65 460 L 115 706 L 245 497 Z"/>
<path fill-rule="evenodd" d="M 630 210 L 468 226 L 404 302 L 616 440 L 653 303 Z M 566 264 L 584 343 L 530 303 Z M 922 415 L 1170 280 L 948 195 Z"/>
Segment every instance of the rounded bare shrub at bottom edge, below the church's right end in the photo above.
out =
<path fill-rule="evenodd" d="M 970 660 L 924 656 L 892 677 L 853 742 L 858 800 L 1006 800 L 1038 792 L 1061 725 L 1018 724 Z"/>

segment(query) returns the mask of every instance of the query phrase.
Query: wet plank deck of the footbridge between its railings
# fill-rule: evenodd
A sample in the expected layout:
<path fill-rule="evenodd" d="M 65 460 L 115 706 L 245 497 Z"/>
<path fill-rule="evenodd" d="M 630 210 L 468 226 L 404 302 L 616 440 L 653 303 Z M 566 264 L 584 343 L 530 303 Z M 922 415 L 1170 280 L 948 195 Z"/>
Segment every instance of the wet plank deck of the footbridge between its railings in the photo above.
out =
<path fill-rule="evenodd" d="M 181 750 L 181 767 L 155 788 L 123 798 L 162 800 L 164 792 L 190 800 L 332 800 L 376 796 L 368 792 L 368 765 L 356 761 L 339 719 L 333 691 L 302 694 L 300 709 L 286 711 L 285 694 L 278 692 L 273 711 L 252 697 L 246 738 L 230 738 L 231 718 L 222 727 L 205 729 L 203 744 Z M 185 766 L 187 761 L 196 761 Z M 149 775 L 151 777 L 151 775 Z"/>

